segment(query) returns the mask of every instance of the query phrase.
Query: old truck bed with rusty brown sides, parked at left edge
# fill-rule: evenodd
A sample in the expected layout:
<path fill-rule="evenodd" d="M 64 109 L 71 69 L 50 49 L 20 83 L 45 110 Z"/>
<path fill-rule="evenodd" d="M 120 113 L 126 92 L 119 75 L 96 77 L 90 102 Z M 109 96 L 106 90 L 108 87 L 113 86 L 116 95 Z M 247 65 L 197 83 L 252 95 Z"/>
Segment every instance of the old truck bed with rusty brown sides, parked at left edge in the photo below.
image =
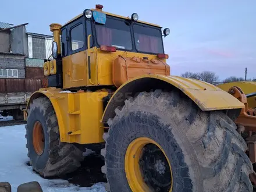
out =
<path fill-rule="evenodd" d="M 27 99 L 38 88 L 46 87 L 45 79 L 0 79 L 0 114 L 22 120 Z"/>

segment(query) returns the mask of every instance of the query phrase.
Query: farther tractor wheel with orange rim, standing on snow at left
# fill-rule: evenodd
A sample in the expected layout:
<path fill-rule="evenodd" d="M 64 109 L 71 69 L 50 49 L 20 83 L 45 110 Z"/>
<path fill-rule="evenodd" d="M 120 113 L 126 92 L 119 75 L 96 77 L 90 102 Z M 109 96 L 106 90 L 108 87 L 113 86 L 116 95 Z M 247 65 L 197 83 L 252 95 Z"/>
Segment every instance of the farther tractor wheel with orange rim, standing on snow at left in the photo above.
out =
<path fill-rule="evenodd" d="M 49 99 L 34 99 L 28 113 L 26 146 L 33 169 L 42 177 L 55 177 L 79 168 L 82 151 L 60 141 L 58 120 Z"/>

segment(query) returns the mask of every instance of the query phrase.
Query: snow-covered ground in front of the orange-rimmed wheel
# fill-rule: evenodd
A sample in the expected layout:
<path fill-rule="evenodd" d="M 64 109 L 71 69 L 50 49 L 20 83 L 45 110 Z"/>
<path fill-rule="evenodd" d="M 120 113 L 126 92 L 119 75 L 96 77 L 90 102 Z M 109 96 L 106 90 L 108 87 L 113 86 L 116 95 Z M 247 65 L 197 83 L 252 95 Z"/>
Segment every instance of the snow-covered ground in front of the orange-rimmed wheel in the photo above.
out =
<path fill-rule="evenodd" d="M 26 163 L 26 138 L 24 125 L 0 127 L 0 182 L 9 182 L 12 191 L 22 183 L 37 181 L 42 190 L 48 192 L 105 192 L 103 183 L 96 183 L 92 187 L 79 187 L 62 179 L 43 179 L 33 172 Z"/>

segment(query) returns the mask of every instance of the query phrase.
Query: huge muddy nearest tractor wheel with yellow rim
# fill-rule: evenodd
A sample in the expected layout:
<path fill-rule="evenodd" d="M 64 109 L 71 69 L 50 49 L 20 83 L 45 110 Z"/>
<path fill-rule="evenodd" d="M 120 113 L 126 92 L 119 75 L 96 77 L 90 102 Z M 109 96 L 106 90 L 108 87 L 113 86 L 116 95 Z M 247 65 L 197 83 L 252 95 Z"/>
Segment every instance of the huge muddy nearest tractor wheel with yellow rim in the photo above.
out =
<path fill-rule="evenodd" d="M 221 111 L 203 112 L 181 91 L 125 101 L 102 150 L 116 191 L 253 191 L 247 145 Z"/>

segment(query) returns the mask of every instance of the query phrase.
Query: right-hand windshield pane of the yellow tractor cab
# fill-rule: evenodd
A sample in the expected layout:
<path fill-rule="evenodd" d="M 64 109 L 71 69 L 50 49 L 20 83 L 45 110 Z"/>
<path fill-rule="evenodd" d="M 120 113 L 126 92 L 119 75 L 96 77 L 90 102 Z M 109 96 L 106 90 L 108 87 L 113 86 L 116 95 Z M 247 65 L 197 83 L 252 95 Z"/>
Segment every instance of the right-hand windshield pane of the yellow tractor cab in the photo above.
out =
<path fill-rule="evenodd" d="M 134 24 L 133 31 L 137 51 L 163 54 L 161 29 Z"/>

